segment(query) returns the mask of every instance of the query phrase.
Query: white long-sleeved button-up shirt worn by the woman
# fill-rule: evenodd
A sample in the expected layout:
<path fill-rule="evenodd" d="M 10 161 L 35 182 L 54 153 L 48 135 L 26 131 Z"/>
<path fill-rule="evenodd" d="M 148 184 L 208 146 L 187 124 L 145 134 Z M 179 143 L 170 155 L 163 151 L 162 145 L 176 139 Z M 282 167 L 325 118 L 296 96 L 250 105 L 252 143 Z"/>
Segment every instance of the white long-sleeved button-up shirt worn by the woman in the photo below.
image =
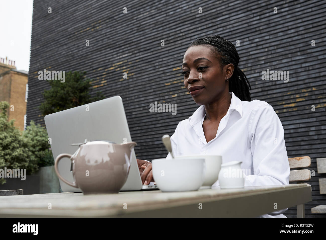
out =
<path fill-rule="evenodd" d="M 289 184 L 289 160 L 284 130 L 273 107 L 265 101 L 241 101 L 233 92 L 227 114 L 216 136 L 206 142 L 202 128 L 206 115 L 201 105 L 188 119 L 179 122 L 171 136 L 172 152 L 179 155 L 221 155 L 222 163 L 239 160 L 248 173 L 244 186 Z M 170 159 L 170 153 L 166 159 Z M 217 180 L 212 188 L 219 187 Z M 259 217 L 285 217 L 286 209 Z M 272 216 L 273 215 L 273 216 Z"/>

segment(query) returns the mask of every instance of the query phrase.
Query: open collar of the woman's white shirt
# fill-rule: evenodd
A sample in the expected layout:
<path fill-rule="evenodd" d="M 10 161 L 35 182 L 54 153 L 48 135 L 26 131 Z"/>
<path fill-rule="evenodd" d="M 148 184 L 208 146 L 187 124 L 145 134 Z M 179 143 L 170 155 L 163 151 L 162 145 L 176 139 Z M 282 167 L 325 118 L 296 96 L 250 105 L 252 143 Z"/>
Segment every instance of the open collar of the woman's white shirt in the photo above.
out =
<path fill-rule="evenodd" d="M 230 94 L 231 94 L 231 104 L 230 104 L 230 107 L 229 107 L 229 110 L 228 110 L 226 116 L 228 114 L 230 114 L 231 109 L 234 109 L 234 110 L 238 111 L 238 113 L 242 117 L 242 102 L 241 102 L 241 100 L 237 96 L 235 96 L 235 94 L 233 92 L 230 92 Z M 189 117 L 189 123 L 190 123 L 190 125 L 193 126 L 194 124 L 198 123 L 205 116 L 205 114 L 206 114 L 205 106 L 204 105 L 201 105 L 196 110 L 196 112 L 194 112 Z"/>

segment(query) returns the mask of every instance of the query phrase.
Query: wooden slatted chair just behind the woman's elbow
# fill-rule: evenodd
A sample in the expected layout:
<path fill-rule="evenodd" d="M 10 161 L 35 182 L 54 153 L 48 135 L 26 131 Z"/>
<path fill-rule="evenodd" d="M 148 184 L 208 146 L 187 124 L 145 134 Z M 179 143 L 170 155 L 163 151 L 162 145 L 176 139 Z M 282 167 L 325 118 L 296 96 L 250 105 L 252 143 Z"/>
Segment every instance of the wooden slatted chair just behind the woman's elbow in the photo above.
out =
<path fill-rule="evenodd" d="M 311 158 L 308 156 L 289 158 L 289 165 L 291 169 L 308 168 L 311 166 Z M 311 179 L 311 172 L 309 169 L 291 170 L 289 183 L 297 182 L 304 183 Z M 304 217 L 304 203 L 297 205 L 297 217 Z"/>

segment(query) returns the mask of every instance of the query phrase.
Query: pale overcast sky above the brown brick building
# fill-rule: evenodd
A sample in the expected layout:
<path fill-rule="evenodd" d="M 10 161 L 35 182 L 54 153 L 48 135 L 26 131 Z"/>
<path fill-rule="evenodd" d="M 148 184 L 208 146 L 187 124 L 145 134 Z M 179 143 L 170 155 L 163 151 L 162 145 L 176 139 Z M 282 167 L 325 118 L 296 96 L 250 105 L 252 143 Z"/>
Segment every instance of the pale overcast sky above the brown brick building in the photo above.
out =
<path fill-rule="evenodd" d="M 16 61 L 17 70 L 29 69 L 33 0 L 0 0 L 0 57 Z"/>

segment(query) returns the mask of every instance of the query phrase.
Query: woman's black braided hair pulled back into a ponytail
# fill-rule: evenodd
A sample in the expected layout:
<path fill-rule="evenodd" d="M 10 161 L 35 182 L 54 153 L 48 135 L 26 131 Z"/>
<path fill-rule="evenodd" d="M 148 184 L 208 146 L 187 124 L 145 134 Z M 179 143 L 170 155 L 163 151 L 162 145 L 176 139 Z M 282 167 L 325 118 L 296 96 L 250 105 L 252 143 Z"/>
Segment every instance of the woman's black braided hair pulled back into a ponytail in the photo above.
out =
<path fill-rule="evenodd" d="M 212 53 L 220 62 L 221 70 L 227 64 L 232 63 L 234 65 L 232 77 L 229 79 L 229 91 L 233 92 L 242 101 L 251 101 L 249 92 L 251 86 L 244 72 L 238 67 L 240 57 L 234 45 L 225 38 L 214 35 L 197 38 L 188 48 L 199 45 L 211 48 Z"/>

